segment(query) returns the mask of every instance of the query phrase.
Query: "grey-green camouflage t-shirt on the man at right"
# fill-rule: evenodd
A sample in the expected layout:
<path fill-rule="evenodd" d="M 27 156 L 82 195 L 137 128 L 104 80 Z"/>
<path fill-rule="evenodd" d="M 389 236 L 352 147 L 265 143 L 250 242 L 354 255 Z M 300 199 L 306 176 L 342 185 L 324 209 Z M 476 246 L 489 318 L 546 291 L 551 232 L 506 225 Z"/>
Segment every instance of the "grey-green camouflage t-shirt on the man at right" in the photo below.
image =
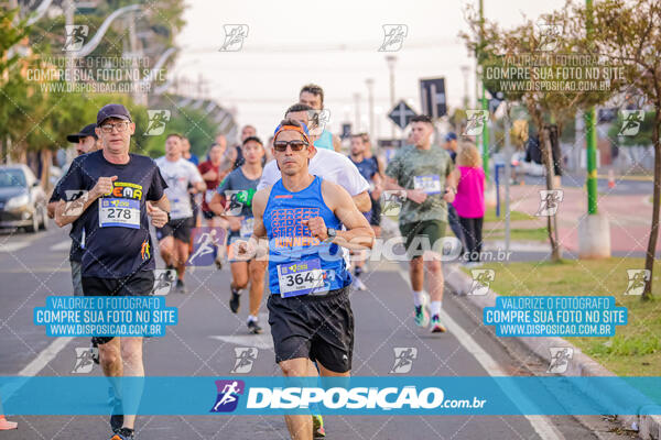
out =
<path fill-rule="evenodd" d="M 421 189 L 427 194 L 422 204 L 407 199 L 400 212 L 400 224 L 424 220 L 447 221 L 447 204 L 443 200 L 445 178 L 454 170 L 449 154 L 432 145 L 419 150 L 403 146 L 390 161 L 386 174 L 405 189 Z"/>

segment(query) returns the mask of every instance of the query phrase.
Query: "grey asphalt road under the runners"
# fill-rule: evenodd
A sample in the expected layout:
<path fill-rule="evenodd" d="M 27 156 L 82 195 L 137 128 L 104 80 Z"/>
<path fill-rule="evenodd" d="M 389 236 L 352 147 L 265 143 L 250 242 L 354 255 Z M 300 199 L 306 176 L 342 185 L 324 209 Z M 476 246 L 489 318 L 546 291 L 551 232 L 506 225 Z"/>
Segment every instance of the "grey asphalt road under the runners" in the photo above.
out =
<path fill-rule="evenodd" d="M 48 295 L 71 295 L 66 232 L 54 226 L 46 232 L 0 234 L 0 375 L 73 375 L 75 348 L 87 338 L 48 338 L 32 323 L 32 310 Z M 372 263 L 366 274 L 369 290 L 354 292 L 356 319 L 355 375 L 389 375 L 395 348 L 415 348 L 418 358 L 408 375 L 480 376 L 545 374 L 549 360 L 527 353 L 513 341 L 499 341 L 465 297 L 446 293 L 444 311 L 449 332 L 430 334 L 412 319 L 411 293 L 402 268 Z M 145 341 L 144 362 L 150 375 L 227 376 L 235 364 L 235 348 L 258 349 L 248 375 L 280 375 L 268 333 L 250 336 L 245 319 L 228 308 L 229 272 L 215 267 L 187 274 L 187 295 L 170 295 L 169 306 L 180 310 L 180 323 L 163 338 Z M 245 298 L 247 300 L 247 297 Z M 507 342 L 503 345 L 502 342 Z M 101 375 L 95 366 L 90 375 Z M 213 403 L 212 403 L 213 404 Z M 0 439 L 108 439 L 101 416 L 10 416 L 14 431 Z M 328 439 L 596 439 L 619 438 L 617 427 L 602 417 L 577 420 L 523 416 L 335 416 L 325 417 Z M 137 438 L 151 439 L 286 439 L 281 416 L 140 416 Z"/>

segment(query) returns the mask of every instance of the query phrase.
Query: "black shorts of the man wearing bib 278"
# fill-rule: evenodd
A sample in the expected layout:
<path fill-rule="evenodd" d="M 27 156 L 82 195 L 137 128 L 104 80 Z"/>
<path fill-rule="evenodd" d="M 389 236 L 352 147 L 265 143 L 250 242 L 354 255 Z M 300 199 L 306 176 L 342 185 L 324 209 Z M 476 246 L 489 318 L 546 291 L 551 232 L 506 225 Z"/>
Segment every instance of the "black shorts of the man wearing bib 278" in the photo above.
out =
<path fill-rule="evenodd" d="M 139 271 L 121 278 L 83 277 L 85 296 L 148 296 L 154 289 L 154 271 Z M 97 344 L 110 342 L 112 337 L 93 337 Z"/>

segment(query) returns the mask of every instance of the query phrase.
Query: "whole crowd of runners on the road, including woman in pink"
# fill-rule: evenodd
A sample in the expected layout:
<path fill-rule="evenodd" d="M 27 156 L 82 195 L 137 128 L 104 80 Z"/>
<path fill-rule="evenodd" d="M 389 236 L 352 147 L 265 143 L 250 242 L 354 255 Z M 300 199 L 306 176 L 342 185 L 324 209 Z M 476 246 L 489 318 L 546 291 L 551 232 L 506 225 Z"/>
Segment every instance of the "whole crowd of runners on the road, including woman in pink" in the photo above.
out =
<path fill-rule="evenodd" d="M 368 288 L 366 256 L 381 237 L 380 200 L 392 193 L 403 200 L 399 232 L 409 257 L 414 322 L 444 332 L 442 246 L 448 221 L 466 251 L 479 251 L 481 243 L 484 173 L 477 150 L 457 145 L 454 133 L 444 138 L 445 148 L 433 145 L 433 121 L 421 116 L 411 122 L 409 144 L 387 164 L 365 133 L 351 134 L 348 154 L 342 153 L 339 138 L 319 124 L 323 110 L 323 89 L 306 85 L 296 102 L 273 116 L 272 133 L 260 138 L 246 125 L 237 145 L 219 134 L 201 161 L 180 133 L 167 134 L 165 155 L 156 160 L 130 152 L 136 132 L 130 112 L 121 105 L 102 107 L 96 123 L 68 138 L 79 155 L 48 204 L 59 227 L 72 224 L 74 295 L 152 295 L 155 248 L 160 268 L 176 274 L 172 292 L 189 294 L 186 267 L 202 255 L 194 250 L 204 240 L 212 243 L 217 268 L 231 273 L 227 288 L 212 288 L 227 293 L 234 314 L 246 307 L 248 292 L 247 331 L 270 327 L 283 375 L 348 376 L 351 286 Z M 264 293 L 268 323 L 258 318 Z M 142 343 L 139 337 L 93 338 L 107 376 L 143 376 Z M 117 391 L 112 399 L 109 438 L 133 439 L 136 416 L 123 414 Z M 311 413 L 285 416 L 292 438 L 325 437 L 322 416 L 315 408 Z"/>

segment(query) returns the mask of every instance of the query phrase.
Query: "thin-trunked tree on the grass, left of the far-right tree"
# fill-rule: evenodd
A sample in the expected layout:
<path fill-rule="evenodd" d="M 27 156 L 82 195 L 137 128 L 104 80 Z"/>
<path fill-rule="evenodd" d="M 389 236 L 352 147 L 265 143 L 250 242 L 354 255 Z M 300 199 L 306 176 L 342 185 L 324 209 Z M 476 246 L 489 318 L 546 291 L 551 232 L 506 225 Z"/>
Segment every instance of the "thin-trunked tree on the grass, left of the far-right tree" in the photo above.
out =
<path fill-rule="evenodd" d="M 564 125 L 573 120 L 577 109 L 587 109 L 605 102 L 617 87 L 608 84 L 595 89 L 576 87 L 576 78 L 588 78 L 593 66 L 578 65 L 566 70 L 566 56 L 589 53 L 589 38 L 585 32 L 588 12 L 571 1 L 561 11 L 544 14 L 533 23 L 527 20 L 511 30 L 496 22 L 480 20 L 473 9 L 467 10 L 469 33 L 462 33 L 467 47 L 474 51 L 481 65 L 485 87 L 500 91 L 510 102 L 519 102 L 528 111 L 531 122 L 540 134 L 540 148 L 546 169 L 546 189 L 554 189 L 554 169 L 548 122 L 557 125 L 562 134 Z M 557 34 L 545 33 L 540 28 Z M 560 75 L 559 75 L 560 74 Z M 574 85 L 574 87 L 572 87 Z M 560 260 L 560 246 L 554 234 L 554 216 L 548 218 L 548 234 L 553 261 Z"/>

